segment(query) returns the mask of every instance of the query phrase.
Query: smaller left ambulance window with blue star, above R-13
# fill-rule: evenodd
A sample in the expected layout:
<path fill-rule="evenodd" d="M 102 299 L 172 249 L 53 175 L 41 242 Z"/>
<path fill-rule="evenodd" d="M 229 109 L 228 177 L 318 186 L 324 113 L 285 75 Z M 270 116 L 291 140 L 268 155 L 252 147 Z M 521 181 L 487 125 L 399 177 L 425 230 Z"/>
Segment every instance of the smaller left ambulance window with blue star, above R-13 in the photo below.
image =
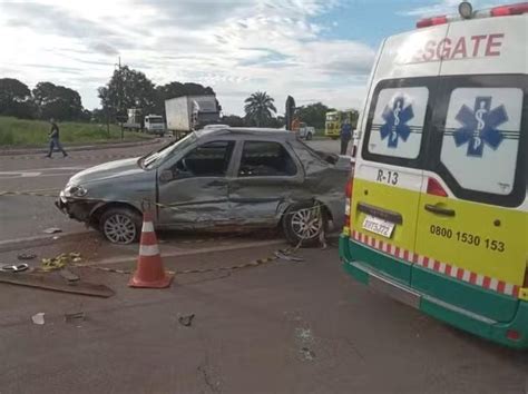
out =
<path fill-rule="evenodd" d="M 426 87 L 380 90 L 368 152 L 404 159 L 418 158 L 428 100 L 429 89 Z"/>

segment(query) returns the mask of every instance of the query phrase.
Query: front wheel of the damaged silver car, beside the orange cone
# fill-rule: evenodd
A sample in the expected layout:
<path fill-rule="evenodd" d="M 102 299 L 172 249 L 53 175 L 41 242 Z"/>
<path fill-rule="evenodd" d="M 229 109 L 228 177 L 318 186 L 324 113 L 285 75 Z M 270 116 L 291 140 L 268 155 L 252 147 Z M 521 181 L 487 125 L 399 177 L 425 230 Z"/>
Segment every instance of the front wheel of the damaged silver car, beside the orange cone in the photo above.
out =
<path fill-rule="evenodd" d="M 137 243 L 141 234 L 141 216 L 131 208 L 111 207 L 99 218 L 99 230 L 113 244 Z"/>

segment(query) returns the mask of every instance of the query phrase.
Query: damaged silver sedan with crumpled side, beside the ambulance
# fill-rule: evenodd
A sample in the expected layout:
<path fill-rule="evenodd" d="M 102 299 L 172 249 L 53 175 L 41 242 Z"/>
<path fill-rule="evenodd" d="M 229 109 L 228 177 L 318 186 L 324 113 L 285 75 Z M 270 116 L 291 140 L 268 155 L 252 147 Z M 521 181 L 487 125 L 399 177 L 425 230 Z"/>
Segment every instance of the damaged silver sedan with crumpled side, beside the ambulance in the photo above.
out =
<path fill-rule="evenodd" d="M 145 200 L 156 229 L 281 227 L 290 242 L 311 243 L 343 225 L 349 175 L 349 157 L 317 152 L 291 131 L 217 128 L 80 171 L 56 205 L 115 244 L 138 240 Z"/>

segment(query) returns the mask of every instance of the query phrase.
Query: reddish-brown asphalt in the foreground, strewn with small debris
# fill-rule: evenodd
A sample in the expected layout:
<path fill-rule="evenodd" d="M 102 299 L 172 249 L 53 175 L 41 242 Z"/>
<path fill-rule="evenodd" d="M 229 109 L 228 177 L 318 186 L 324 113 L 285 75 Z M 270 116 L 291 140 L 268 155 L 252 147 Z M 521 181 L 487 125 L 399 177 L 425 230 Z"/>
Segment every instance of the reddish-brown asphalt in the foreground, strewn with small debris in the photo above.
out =
<path fill-rule="evenodd" d="M 226 266 L 275 248 L 165 265 Z M 300 256 L 305 260 L 179 275 L 164 290 L 128 288 L 128 275 L 77 269 L 111 287 L 108 299 L 0 285 L 0 392 L 527 392 L 526 352 L 372 293 L 342 270 L 335 246 Z M 65 322 L 75 312 L 86 319 Z M 32 324 L 37 313 L 45 325 Z M 178 323 L 189 314 L 190 326 Z"/>

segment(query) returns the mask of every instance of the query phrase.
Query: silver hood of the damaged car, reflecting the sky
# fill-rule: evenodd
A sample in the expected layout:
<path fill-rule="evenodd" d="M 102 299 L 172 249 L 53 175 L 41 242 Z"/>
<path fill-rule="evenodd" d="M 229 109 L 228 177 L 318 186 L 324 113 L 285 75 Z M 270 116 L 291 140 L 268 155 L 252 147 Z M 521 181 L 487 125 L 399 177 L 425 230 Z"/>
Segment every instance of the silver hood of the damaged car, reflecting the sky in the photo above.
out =
<path fill-rule="evenodd" d="M 144 174 L 145 170 L 137 165 L 139 157 L 105 162 L 77 173 L 70 178 L 69 184 L 85 185 L 92 181 L 106 180 L 116 177 Z"/>

